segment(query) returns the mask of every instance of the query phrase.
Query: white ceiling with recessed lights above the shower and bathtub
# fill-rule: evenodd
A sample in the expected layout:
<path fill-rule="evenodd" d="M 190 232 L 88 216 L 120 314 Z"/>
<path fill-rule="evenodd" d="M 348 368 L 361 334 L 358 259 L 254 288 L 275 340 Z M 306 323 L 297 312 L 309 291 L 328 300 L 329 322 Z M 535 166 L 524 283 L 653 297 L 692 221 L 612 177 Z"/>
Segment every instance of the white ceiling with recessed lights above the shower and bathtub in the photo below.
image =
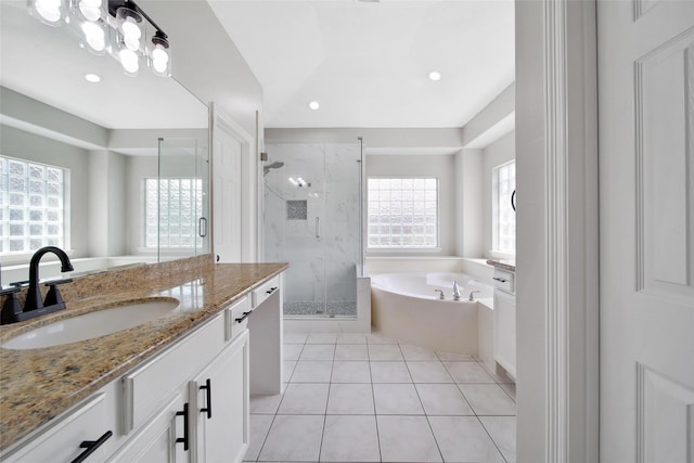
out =
<path fill-rule="evenodd" d="M 513 1 L 208 3 L 262 86 L 269 128 L 462 127 L 515 78 Z"/>

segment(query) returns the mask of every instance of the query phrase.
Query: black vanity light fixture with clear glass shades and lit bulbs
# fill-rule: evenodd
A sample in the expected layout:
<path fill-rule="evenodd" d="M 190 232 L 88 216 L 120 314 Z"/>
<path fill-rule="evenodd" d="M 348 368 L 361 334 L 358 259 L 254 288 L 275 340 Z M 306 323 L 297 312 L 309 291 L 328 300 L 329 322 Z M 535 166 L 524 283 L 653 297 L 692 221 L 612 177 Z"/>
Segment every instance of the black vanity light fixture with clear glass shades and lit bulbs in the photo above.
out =
<path fill-rule="evenodd" d="M 120 62 L 137 76 L 141 61 L 157 76 L 171 75 L 168 36 L 133 0 L 28 0 L 29 13 L 51 26 L 69 25 L 82 48 Z"/>

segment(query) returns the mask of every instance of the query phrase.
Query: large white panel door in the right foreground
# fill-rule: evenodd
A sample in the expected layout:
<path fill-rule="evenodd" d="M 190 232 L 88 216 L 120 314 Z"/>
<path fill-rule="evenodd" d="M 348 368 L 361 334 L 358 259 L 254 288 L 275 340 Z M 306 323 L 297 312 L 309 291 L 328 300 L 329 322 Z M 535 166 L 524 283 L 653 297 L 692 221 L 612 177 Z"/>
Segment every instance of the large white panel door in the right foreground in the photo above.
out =
<path fill-rule="evenodd" d="M 597 1 L 601 461 L 694 459 L 694 2 Z"/>

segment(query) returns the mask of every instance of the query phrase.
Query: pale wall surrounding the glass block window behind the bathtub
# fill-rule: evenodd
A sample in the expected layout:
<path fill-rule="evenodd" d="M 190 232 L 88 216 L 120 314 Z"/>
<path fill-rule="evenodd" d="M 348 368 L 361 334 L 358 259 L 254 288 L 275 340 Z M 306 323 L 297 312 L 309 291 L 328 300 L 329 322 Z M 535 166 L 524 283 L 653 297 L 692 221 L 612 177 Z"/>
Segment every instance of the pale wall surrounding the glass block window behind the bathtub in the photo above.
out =
<path fill-rule="evenodd" d="M 452 256 L 455 254 L 455 158 L 453 155 L 374 155 L 367 158 L 367 176 L 403 176 L 438 178 L 438 216 L 440 250 L 427 254 Z M 367 252 L 368 256 L 388 253 Z M 402 255 L 403 253 L 398 253 Z M 422 255 L 423 253 L 413 253 Z"/>

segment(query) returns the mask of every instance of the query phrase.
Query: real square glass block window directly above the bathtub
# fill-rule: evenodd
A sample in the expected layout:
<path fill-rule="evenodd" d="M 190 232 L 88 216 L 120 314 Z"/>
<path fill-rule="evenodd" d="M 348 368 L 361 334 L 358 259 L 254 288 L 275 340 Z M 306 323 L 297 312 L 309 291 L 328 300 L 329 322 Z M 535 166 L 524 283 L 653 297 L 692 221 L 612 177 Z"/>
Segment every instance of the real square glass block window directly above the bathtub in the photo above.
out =
<path fill-rule="evenodd" d="M 369 178 L 369 248 L 438 246 L 438 179 Z"/>

